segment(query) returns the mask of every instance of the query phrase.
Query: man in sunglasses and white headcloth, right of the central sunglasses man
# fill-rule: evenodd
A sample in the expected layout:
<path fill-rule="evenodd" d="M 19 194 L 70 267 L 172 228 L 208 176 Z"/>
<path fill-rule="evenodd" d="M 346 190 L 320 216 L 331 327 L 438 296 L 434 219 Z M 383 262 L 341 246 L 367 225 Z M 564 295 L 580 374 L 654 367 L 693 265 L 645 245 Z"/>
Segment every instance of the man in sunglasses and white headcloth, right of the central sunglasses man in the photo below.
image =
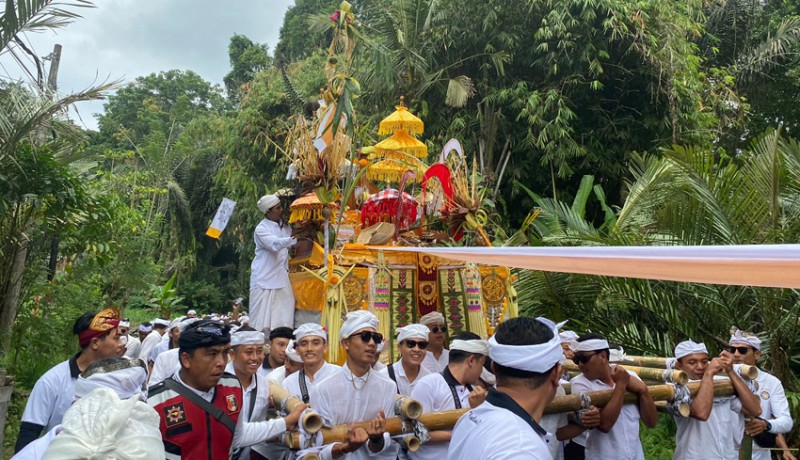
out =
<path fill-rule="evenodd" d="M 397 329 L 397 349 L 400 359 L 380 372 L 397 385 L 397 394 L 411 396 L 414 384 L 430 374 L 422 367 L 428 348 L 428 327 L 422 324 L 409 324 Z"/>

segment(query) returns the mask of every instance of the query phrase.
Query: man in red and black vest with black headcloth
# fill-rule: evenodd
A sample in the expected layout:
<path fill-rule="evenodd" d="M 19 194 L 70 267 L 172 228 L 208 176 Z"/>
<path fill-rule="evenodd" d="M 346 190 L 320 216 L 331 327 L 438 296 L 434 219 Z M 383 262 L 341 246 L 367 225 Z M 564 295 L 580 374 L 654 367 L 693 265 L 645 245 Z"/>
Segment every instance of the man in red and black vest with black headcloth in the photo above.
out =
<path fill-rule="evenodd" d="M 273 439 L 293 428 L 306 407 L 285 418 L 246 422 L 242 387 L 225 372 L 228 327 L 202 320 L 179 339 L 181 369 L 150 388 L 148 404 L 158 412 L 167 459 L 229 458 L 233 448 Z"/>

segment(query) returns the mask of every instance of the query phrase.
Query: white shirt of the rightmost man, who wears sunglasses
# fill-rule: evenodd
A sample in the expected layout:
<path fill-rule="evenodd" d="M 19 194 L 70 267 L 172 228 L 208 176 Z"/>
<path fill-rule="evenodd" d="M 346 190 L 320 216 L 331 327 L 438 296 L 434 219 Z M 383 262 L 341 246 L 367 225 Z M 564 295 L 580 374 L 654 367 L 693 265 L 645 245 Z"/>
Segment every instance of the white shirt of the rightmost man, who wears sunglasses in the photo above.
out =
<path fill-rule="evenodd" d="M 757 387 L 755 394 L 761 403 L 760 417 L 772 425 L 771 433 L 788 433 L 792 431 L 794 422 L 789 411 L 789 401 L 786 399 L 786 392 L 783 384 L 777 377 L 758 369 L 756 377 Z M 744 415 L 741 412 L 734 413 L 733 430 L 736 433 L 736 445 L 741 444 L 742 434 L 744 433 Z M 753 442 L 753 460 L 770 460 L 770 451 L 760 449 L 758 444 Z"/>

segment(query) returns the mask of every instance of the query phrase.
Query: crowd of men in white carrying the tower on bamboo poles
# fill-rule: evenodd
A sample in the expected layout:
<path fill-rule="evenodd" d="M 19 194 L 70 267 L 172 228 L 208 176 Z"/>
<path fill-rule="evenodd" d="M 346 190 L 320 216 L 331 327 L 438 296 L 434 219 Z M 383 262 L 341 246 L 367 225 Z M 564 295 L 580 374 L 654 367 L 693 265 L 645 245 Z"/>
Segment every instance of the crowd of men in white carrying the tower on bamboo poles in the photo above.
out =
<path fill-rule="evenodd" d="M 444 317 L 429 313 L 397 329 L 399 359 L 384 365 L 378 319 L 350 312 L 333 345 L 345 351 L 342 366 L 325 361 L 329 337 L 319 324 L 265 335 L 242 319 L 192 312 L 140 326 L 133 337 L 115 310 L 78 318 L 80 352 L 36 383 L 14 460 L 293 458 L 280 438 L 309 408 L 330 426 L 368 422 L 351 427 L 344 442 L 312 442 L 300 452 L 326 459 L 644 459 L 640 422 L 658 423 L 648 386 L 615 364 L 624 363 L 623 353 L 601 335 L 579 337 L 544 318 L 510 319 L 489 340 L 455 334 L 445 347 Z M 675 368 L 700 387 L 690 415 L 675 414 L 675 459 L 738 459 L 744 434 L 754 439 L 754 459 L 786 447 L 781 434 L 792 419 L 780 381 L 762 369 L 753 381 L 736 372 L 736 364 L 756 366 L 761 347 L 740 330 L 713 358 L 702 343 L 677 345 Z M 566 359 L 580 369 L 568 380 L 571 393 L 610 390 L 606 404 L 544 415 L 565 393 Z M 721 379 L 734 395 L 715 396 Z M 288 413 L 275 407 L 270 385 L 302 404 Z M 397 395 L 415 399 L 424 413 L 471 410 L 452 430 L 430 431 L 409 450 L 386 431 Z M 777 452 L 794 458 L 788 449 Z"/>

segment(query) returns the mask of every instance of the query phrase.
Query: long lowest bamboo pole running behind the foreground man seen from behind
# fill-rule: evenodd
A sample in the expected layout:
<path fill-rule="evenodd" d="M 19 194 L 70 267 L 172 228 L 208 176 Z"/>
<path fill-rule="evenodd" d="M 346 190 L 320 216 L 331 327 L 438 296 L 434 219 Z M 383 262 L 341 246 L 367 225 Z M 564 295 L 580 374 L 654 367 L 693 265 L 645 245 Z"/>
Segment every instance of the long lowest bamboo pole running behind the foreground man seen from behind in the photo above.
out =
<path fill-rule="evenodd" d="M 686 388 L 692 394 L 692 396 L 697 394 L 697 391 L 700 389 L 701 382 L 692 382 L 686 385 Z M 675 387 L 670 384 L 665 385 L 653 385 L 648 387 L 650 392 L 650 397 L 653 401 L 670 401 L 675 398 Z M 591 404 L 597 407 L 605 406 L 608 401 L 611 399 L 614 390 L 603 390 L 603 391 L 590 391 L 585 393 Z M 714 382 L 714 395 L 715 396 L 731 396 L 734 394 L 733 385 L 729 380 L 717 380 Z M 631 392 L 626 392 L 623 398 L 625 403 L 637 403 L 639 401 L 639 395 Z M 583 403 L 581 400 L 581 396 L 575 395 L 566 395 L 566 396 L 558 396 L 556 397 L 544 410 L 544 414 L 555 414 L 555 413 L 564 413 L 564 412 L 573 412 L 576 410 L 580 410 L 583 408 Z M 453 426 L 455 426 L 456 422 L 458 421 L 459 417 L 464 415 L 469 408 L 465 409 L 455 409 L 455 410 L 448 410 L 442 412 L 431 412 L 428 414 L 422 414 L 419 418 L 419 422 L 425 425 L 425 427 L 429 431 L 436 431 L 436 430 L 452 430 Z M 684 409 L 681 409 L 683 412 Z M 367 422 L 356 422 L 351 424 L 344 424 L 344 425 L 337 425 L 332 428 L 323 428 L 322 429 L 322 443 L 323 444 L 330 444 L 332 442 L 346 442 L 347 441 L 347 430 L 350 427 L 354 428 L 370 428 L 371 421 Z M 403 419 L 399 417 L 392 417 L 386 419 L 386 427 L 385 430 L 391 436 L 397 436 L 404 433 L 408 433 L 407 427 Z M 300 446 L 300 434 L 297 432 L 290 432 L 287 431 L 283 437 L 284 445 L 288 446 L 290 449 L 299 449 Z"/>

